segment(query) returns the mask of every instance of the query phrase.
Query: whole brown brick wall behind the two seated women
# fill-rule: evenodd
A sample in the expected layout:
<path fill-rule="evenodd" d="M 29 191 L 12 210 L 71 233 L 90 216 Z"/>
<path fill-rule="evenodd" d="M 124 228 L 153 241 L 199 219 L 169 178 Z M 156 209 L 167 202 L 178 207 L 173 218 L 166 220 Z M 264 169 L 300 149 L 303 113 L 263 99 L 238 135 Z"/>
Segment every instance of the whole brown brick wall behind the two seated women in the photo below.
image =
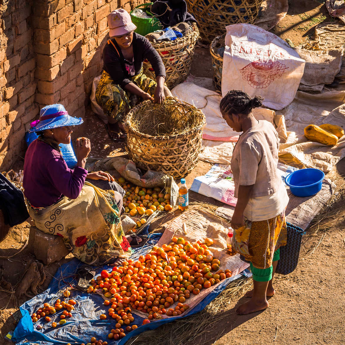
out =
<path fill-rule="evenodd" d="M 39 109 L 61 103 L 85 117 L 102 70 L 107 15 L 146 0 L 0 0 L 0 168 L 23 154 Z M 78 133 L 83 128 L 80 126 Z"/>

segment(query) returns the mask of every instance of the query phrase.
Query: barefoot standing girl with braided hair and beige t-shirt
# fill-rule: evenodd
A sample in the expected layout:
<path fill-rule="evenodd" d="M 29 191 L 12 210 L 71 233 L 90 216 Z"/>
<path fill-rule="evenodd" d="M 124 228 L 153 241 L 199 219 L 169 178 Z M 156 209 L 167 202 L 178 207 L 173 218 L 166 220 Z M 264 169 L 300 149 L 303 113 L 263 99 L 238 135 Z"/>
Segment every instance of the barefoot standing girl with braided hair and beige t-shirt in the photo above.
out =
<path fill-rule="evenodd" d="M 256 120 L 253 108 L 262 97 L 231 90 L 220 101 L 220 111 L 228 126 L 243 132 L 231 159 L 237 204 L 231 219 L 234 229 L 232 248 L 250 261 L 254 289 L 251 299 L 239 306 L 239 315 L 268 307 L 266 296 L 273 296 L 272 279 L 279 260 L 279 247 L 286 245 L 285 208 L 289 198 L 278 172 L 278 134 L 273 125 Z"/>

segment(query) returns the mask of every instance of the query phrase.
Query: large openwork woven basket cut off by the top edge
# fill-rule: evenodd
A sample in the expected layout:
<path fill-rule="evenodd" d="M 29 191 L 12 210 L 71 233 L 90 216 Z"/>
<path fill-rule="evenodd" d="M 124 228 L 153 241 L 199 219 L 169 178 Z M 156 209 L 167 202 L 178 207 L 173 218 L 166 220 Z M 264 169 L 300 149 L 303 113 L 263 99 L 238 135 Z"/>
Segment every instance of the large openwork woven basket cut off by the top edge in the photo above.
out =
<path fill-rule="evenodd" d="M 254 24 L 263 0 L 186 0 L 188 12 L 198 21 L 201 39 L 207 43 L 230 24 Z"/>

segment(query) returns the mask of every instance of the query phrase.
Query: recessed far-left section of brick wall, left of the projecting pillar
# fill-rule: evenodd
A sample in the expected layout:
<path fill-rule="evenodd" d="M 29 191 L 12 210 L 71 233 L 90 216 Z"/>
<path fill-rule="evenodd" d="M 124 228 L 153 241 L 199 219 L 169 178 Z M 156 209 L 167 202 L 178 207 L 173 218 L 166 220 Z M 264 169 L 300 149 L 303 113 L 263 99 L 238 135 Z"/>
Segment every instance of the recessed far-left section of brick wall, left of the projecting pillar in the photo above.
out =
<path fill-rule="evenodd" d="M 39 112 L 34 102 L 36 58 L 30 14 L 33 1 L 0 1 L 0 167 L 24 150 L 25 125 Z"/>

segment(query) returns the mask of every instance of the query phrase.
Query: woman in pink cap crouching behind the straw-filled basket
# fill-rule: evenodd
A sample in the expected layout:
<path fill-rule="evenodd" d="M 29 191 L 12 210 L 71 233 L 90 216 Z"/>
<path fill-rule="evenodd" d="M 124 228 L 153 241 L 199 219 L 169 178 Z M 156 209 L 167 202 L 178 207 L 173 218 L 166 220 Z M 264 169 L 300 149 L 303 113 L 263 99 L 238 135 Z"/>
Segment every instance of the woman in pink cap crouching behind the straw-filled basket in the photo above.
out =
<path fill-rule="evenodd" d="M 108 117 L 106 129 L 113 141 L 125 139 L 122 121 L 138 98 L 164 101 L 171 93 L 165 82 L 165 67 L 158 52 L 147 38 L 134 32 L 137 28 L 124 9 L 108 15 L 108 44 L 103 49 L 103 72 L 96 89 L 97 103 Z M 142 73 L 147 59 L 156 74 L 156 81 Z M 122 132 L 121 132 L 122 131 Z"/>

